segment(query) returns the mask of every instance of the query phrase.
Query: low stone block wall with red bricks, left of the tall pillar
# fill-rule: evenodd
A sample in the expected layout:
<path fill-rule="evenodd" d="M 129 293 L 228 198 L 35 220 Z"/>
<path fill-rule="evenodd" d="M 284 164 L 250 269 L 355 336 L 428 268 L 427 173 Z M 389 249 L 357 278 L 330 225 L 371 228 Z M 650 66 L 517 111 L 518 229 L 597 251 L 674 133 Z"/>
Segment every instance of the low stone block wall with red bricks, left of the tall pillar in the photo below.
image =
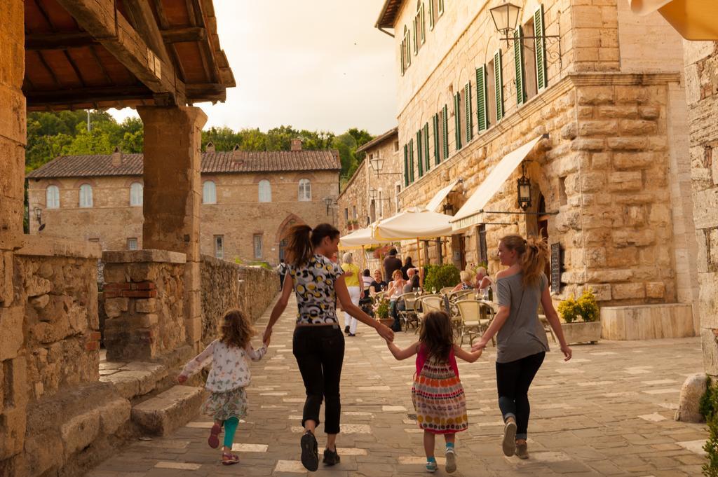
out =
<path fill-rule="evenodd" d="M 103 252 L 103 263 L 108 361 L 157 359 L 185 344 L 184 254 Z"/>

